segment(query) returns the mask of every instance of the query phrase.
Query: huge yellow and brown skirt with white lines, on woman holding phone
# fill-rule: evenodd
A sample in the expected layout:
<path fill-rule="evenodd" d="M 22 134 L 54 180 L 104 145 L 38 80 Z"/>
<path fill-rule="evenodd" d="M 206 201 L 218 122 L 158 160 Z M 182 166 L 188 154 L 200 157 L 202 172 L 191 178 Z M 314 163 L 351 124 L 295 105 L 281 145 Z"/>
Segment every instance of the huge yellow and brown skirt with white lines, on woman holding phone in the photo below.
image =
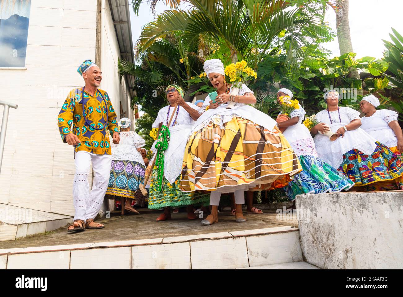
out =
<path fill-rule="evenodd" d="M 269 131 L 241 117 L 233 117 L 221 128 L 213 117 L 188 139 L 180 188 L 223 193 L 262 190 L 272 184 L 282 188 L 299 171 L 298 158 L 278 128 Z"/>

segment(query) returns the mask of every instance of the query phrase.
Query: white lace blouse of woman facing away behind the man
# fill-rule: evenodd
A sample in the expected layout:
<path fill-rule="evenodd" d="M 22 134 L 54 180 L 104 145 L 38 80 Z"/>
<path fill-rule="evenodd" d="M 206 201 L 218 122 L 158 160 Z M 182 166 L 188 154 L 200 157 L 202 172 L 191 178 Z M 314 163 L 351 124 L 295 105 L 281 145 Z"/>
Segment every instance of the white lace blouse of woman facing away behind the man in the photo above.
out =
<path fill-rule="evenodd" d="M 120 141 L 118 144 L 111 142 L 112 160 L 134 161 L 145 167 L 143 157 L 137 148 L 145 145 L 145 140 L 134 131 L 120 132 Z"/>

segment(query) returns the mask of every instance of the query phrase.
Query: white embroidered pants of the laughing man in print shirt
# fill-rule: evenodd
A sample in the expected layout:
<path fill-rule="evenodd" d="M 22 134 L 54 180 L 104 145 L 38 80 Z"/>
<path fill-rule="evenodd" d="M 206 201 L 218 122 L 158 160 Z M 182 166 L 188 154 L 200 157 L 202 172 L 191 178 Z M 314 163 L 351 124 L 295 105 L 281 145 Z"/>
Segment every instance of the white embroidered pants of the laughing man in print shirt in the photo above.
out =
<path fill-rule="evenodd" d="M 75 175 L 73 182 L 74 220 L 94 219 L 102 207 L 108 188 L 111 155 L 96 155 L 78 151 L 75 153 Z M 92 189 L 89 189 L 88 174 L 94 170 Z"/>

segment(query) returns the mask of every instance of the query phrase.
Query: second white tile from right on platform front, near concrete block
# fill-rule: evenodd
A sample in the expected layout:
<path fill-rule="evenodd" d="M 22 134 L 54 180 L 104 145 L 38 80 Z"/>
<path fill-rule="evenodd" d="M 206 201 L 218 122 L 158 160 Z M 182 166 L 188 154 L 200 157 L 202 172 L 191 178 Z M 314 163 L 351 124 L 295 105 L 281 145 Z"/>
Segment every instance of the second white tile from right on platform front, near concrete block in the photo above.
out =
<path fill-rule="evenodd" d="M 232 269 L 247 267 L 245 237 L 191 241 L 192 269 Z"/>

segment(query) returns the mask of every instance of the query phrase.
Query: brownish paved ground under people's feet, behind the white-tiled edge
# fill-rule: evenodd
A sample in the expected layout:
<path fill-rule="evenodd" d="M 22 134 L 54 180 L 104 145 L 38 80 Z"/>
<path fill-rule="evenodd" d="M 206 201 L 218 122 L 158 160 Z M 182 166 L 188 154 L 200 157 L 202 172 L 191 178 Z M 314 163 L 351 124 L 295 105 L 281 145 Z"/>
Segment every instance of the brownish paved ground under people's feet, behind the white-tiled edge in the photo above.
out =
<path fill-rule="evenodd" d="M 141 213 L 140 215 L 122 216 L 119 215 L 120 212 L 112 213 L 110 219 L 98 221 L 105 225 L 104 229 L 85 230 L 84 232 L 73 234 L 67 233 L 67 228 L 60 228 L 52 232 L 37 234 L 15 241 L 1 241 L 0 249 L 125 241 L 280 226 L 298 226 L 296 217 L 288 220 L 277 220 L 275 210 L 264 210 L 263 214 L 244 213 L 247 219 L 244 223 L 235 223 L 235 217 L 229 215 L 229 211 L 223 211 L 219 213 L 219 222 L 211 226 L 202 225 L 200 223 L 202 219 L 199 218 L 193 221 L 187 220 L 186 213 L 172 213 L 172 220 L 156 222 L 156 218 L 161 211 L 150 211 L 148 209 L 138 210 Z"/>

